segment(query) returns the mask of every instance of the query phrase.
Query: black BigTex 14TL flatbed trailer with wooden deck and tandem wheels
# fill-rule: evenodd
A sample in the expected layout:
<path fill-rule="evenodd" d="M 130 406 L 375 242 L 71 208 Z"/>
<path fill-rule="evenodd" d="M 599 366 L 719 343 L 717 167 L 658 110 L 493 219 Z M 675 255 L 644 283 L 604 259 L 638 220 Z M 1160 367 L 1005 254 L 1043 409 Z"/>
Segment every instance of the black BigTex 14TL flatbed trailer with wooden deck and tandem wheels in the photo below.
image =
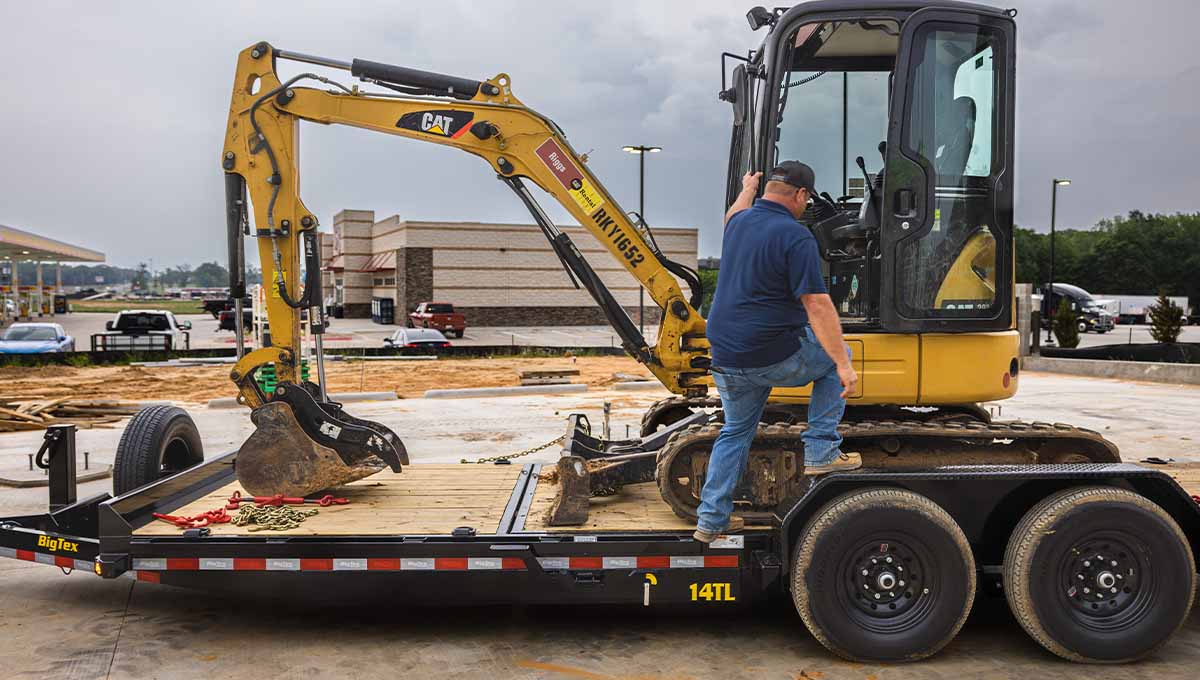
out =
<path fill-rule="evenodd" d="M 154 514 L 226 507 L 240 491 L 236 452 L 194 464 L 187 415 L 152 409 L 122 438 L 116 495 L 77 499 L 74 427 L 47 431 L 38 464 L 48 469 L 49 512 L 0 519 L 0 556 L 248 598 L 402 592 L 414 604 L 719 613 L 791 597 L 823 645 L 860 661 L 935 654 L 977 591 L 1007 597 L 1022 627 L 1062 657 L 1130 661 L 1166 643 L 1195 595 L 1200 465 L 838 473 L 744 532 L 704 544 L 653 481 L 593 498 L 582 524 L 556 526 L 547 522 L 554 465 L 414 464 L 336 489 L 348 504 L 319 507 L 290 530 L 184 530 Z M 642 443 L 653 450 L 670 433 Z M 569 419 L 564 457 L 598 443 L 584 416 Z M 137 470 L 166 471 L 121 488 Z"/>

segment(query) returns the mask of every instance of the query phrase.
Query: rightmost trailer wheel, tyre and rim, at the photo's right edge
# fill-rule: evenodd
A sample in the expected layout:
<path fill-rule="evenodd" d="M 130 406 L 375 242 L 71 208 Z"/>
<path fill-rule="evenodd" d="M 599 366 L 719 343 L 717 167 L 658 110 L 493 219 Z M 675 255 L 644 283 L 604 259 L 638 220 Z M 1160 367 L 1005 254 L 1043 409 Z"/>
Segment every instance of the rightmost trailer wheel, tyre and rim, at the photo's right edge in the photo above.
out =
<path fill-rule="evenodd" d="M 1090 663 L 1134 661 L 1187 621 L 1196 570 L 1162 507 L 1111 487 L 1046 498 L 1013 531 L 1004 591 L 1042 646 Z"/>

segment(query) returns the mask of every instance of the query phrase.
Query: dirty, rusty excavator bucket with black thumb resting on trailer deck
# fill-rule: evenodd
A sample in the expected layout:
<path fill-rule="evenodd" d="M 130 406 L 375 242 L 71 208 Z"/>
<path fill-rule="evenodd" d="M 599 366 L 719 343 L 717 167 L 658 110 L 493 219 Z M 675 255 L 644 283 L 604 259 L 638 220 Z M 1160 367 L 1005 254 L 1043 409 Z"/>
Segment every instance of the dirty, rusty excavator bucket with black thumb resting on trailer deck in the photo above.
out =
<path fill-rule="evenodd" d="M 250 417 L 256 429 L 241 445 L 235 469 L 251 495 L 311 495 L 408 464 L 404 445 L 390 429 L 317 402 L 298 385 L 276 387 Z"/>

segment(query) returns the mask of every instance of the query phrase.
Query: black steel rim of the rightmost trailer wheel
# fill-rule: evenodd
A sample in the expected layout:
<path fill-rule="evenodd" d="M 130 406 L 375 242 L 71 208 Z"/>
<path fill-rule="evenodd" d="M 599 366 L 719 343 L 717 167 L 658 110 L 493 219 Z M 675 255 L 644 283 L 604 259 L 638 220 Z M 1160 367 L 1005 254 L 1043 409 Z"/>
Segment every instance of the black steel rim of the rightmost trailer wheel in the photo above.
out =
<path fill-rule="evenodd" d="M 1075 624 L 1096 632 L 1126 630 L 1150 614 L 1158 582 L 1150 547 L 1123 530 L 1096 531 L 1058 556 L 1060 604 Z"/>

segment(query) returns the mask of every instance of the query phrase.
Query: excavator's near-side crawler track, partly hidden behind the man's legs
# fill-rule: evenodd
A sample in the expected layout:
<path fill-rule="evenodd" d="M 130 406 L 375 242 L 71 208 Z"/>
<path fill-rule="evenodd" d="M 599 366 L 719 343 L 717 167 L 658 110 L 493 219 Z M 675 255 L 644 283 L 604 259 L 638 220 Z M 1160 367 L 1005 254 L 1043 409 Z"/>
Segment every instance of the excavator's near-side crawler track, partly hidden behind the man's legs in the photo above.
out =
<path fill-rule="evenodd" d="M 805 429 L 805 425 L 758 426 L 734 493 L 736 512 L 769 514 L 804 493 L 812 479 L 804 476 Z M 872 469 L 1121 462 L 1116 445 L 1100 433 L 1064 423 L 880 420 L 844 422 L 838 429 L 842 451 L 859 452 L 863 467 Z M 679 517 L 696 518 L 708 456 L 720 431 L 720 423 L 689 426 L 659 451 L 659 491 Z"/>

